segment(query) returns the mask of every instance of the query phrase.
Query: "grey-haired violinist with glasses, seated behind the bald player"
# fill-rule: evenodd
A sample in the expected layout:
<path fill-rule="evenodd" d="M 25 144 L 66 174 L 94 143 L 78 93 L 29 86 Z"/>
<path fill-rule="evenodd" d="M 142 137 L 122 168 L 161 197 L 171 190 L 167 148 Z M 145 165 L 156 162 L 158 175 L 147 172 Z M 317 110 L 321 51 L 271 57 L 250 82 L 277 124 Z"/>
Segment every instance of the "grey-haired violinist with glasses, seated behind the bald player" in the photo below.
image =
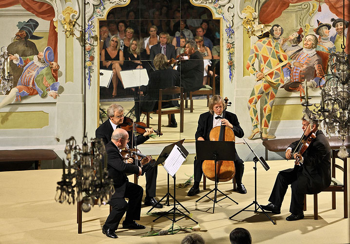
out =
<path fill-rule="evenodd" d="M 124 108 L 118 104 L 111 104 L 107 108 L 107 115 L 109 120 L 103 122 L 96 129 L 96 138 L 100 138 L 103 140 L 105 145 L 111 141 L 112 133 L 115 129 L 120 128 L 120 125 L 124 121 Z M 134 148 L 134 146 L 142 144 L 146 142 L 153 133 L 152 129 L 146 128 L 146 132 L 143 135 L 137 135 L 136 140 L 134 140 L 133 132 L 128 131 L 129 138 L 131 140 L 128 142 L 129 148 Z M 155 199 L 156 196 L 156 183 L 157 183 L 157 167 L 153 167 L 149 171 L 146 172 L 146 198 L 145 205 L 147 206 L 155 206 L 156 208 L 162 208 L 162 204 L 156 204 L 157 201 Z"/>

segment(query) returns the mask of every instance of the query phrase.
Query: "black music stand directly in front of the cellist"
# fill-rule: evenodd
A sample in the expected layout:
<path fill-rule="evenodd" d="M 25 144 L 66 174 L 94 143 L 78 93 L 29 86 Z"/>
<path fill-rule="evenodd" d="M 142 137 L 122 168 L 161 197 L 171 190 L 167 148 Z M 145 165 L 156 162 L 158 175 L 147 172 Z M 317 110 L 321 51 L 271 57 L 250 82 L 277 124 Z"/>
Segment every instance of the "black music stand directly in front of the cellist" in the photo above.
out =
<path fill-rule="evenodd" d="M 196 141 L 195 142 L 195 152 L 197 155 L 197 160 L 214 160 L 215 162 L 215 187 L 213 190 L 205 194 L 203 197 L 195 201 L 196 203 L 203 199 L 204 197 L 209 198 L 211 201 L 214 202 L 213 204 L 213 213 L 215 209 L 215 203 L 220 202 L 221 200 L 224 200 L 225 198 L 230 199 L 234 203 L 238 204 L 236 201 L 234 201 L 232 198 L 227 196 L 225 193 L 220 191 L 217 188 L 217 175 L 216 175 L 216 164 L 219 161 L 234 161 L 236 159 L 235 149 L 234 149 L 234 142 L 217 142 L 217 141 Z M 214 191 L 214 200 L 208 197 L 210 193 Z M 217 192 L 220 192 L 224 197 L 220 200 L 217 200 Z"/>

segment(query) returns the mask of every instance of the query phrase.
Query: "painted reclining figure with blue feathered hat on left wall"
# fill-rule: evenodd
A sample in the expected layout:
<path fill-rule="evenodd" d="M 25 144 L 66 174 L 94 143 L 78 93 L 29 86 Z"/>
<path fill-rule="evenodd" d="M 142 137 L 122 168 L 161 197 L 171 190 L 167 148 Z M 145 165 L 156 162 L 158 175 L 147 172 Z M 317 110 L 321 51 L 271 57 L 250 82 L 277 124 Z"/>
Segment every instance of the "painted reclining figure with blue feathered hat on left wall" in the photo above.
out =
<path fill-rule="evenodd" d="M 0 108 L 13 102 L 21 100 L 23 96 L 39 94 L 40 97 L 49 95 L 58 97 L 59 83 L 54 78 L 51 69 L 58 70 L 57 62 L 54 62 L 54 51 L 46 47 L 43 52 L 30 57 L 19 57 L 18 54 L 9 55 L 10 60 L 18 66 L 24 66 L 23 73 L 19 77 L 17 86 L 12 88 L 10 93 L 0 102 Z"/>

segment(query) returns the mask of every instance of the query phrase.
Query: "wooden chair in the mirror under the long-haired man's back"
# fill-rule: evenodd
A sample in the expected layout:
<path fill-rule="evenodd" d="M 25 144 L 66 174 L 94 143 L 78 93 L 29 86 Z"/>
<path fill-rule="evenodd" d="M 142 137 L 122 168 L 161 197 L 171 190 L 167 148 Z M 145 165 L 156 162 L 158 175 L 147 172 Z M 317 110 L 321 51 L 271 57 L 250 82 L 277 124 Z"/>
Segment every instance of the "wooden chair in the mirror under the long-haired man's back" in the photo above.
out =
<path fill-rule="evenodd" d="M 174 99 L 176 101 L 180 102 L 179 107 L 170 107 L 170 108 L 162 108 L 162 102 L 168 102 L 173 100 L 163 100 L 163 95 L 176 95 L 180 94 L 180 99 Z M 152 112 L 142 112 L 143 114 L 146 114 L 147 116 L 147 127 L 150 126 L 150 114 L 158 114 L 158 131 L 161 131 L 161 122 L 162 122 L 162 115 L 167 114 L 168 115 L 168 125 L 170 125 L 170 115 L 171 114 L 180 114 L 180 132 L 183 132 L 183 113 L 184 107 L 183 107 L 183 87 L 173 86 L 166 89 L 159 89 L 159 100 L 158 100 L 158 109 L 156 111 Z"/>

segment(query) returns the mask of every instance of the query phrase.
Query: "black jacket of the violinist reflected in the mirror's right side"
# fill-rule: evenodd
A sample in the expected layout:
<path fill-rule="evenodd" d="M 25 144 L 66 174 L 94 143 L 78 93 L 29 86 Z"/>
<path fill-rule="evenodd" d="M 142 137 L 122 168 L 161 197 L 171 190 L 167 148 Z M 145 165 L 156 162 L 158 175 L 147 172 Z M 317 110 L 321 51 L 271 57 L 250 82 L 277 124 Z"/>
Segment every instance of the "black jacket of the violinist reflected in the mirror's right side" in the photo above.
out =
<path fill-rule="evenodd" d="M 189 60 L 177 66 L 181 73 L 181 86 L 185 92 L 196 91 L 203 87 L 204 63 L 203 56 L 195 51 Z"/>

